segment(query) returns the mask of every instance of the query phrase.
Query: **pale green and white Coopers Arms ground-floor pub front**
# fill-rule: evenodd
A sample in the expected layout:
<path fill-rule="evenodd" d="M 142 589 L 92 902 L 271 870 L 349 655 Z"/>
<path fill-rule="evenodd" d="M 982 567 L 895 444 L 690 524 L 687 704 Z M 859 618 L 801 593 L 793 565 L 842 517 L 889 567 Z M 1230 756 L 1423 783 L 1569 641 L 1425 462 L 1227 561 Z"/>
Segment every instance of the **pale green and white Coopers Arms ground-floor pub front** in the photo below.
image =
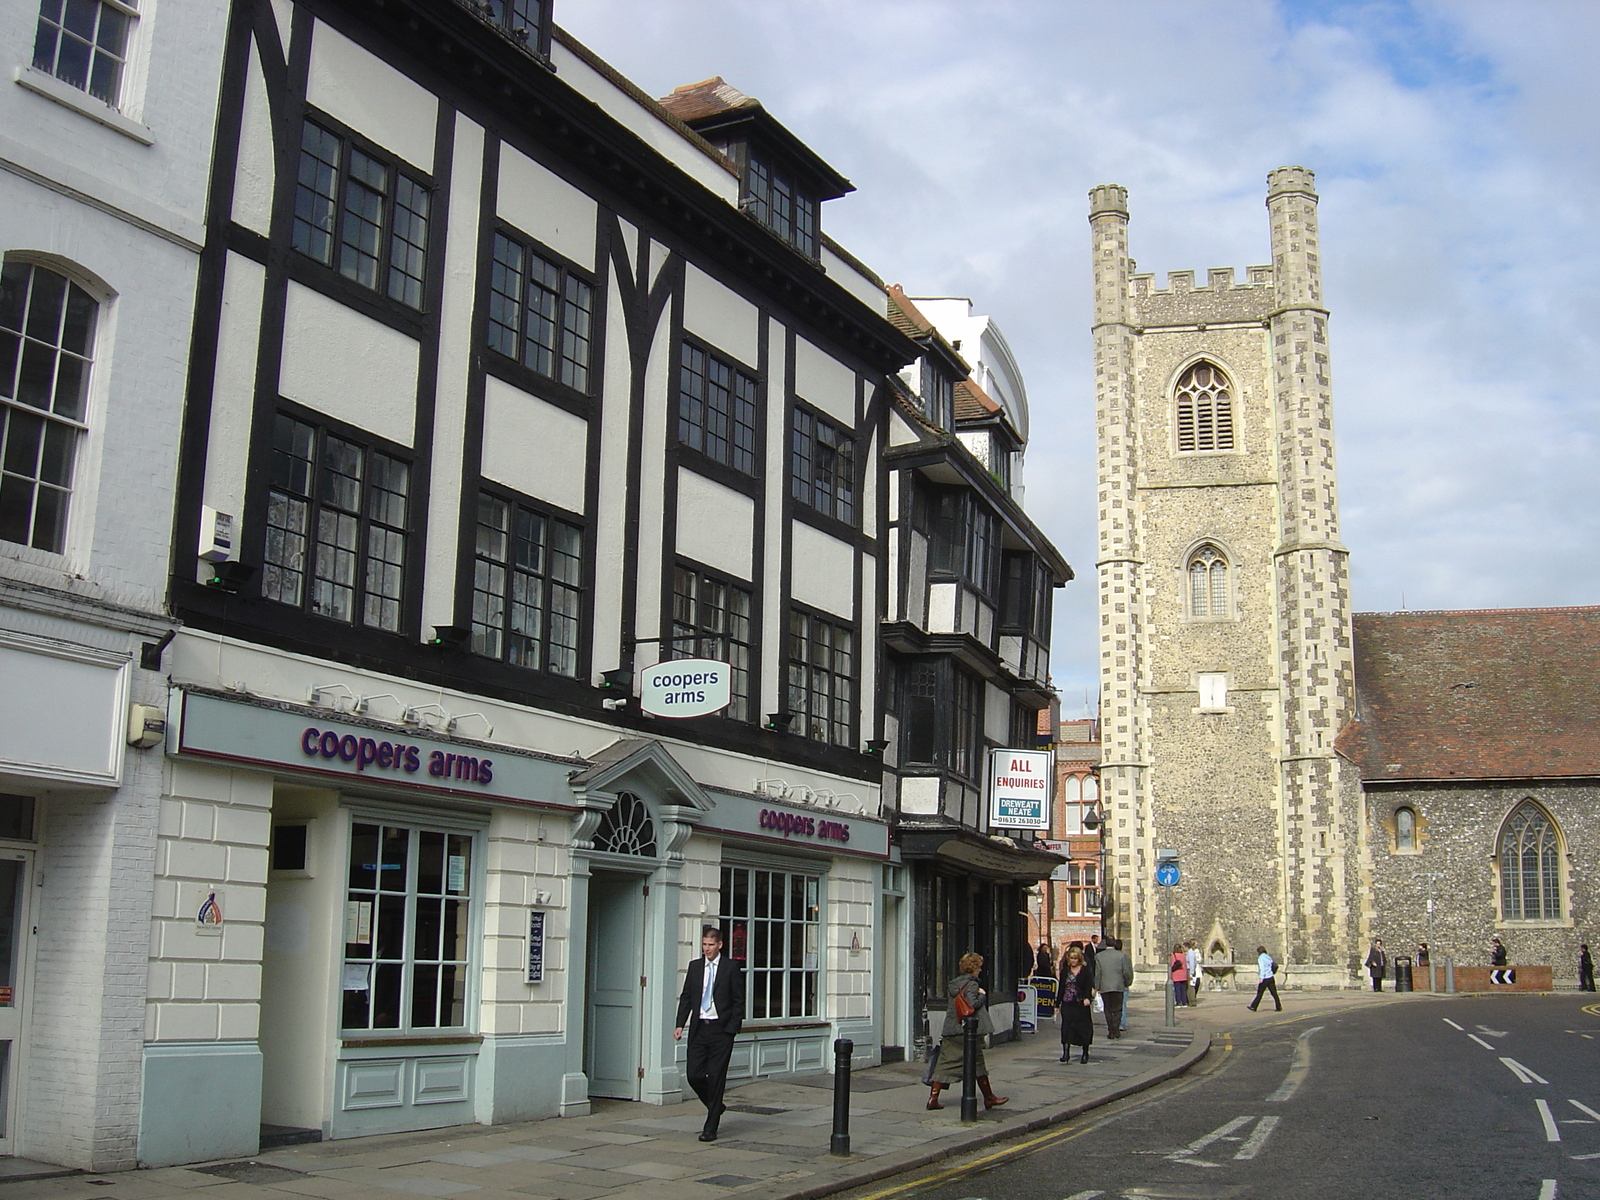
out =
<path fill-rule="evenodd" d="M 677 1102 L 702 923 L 747 965 L 734 1077 L 875 1061 L 886 827 L 680 757 L 174 691 L 141 1162 Z"/>

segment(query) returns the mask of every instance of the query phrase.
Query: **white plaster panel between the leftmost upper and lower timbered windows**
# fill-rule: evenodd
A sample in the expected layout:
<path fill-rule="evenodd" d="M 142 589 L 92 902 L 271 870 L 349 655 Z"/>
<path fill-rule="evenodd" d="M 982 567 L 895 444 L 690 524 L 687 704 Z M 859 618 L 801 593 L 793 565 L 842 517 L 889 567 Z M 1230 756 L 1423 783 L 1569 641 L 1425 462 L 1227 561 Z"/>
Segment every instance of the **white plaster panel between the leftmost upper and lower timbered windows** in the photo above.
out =
<path fill-rule="evenodd" d="M 462 187 L 459 192 L 470 192 Z M 339 301 L 290 283 L 278 390 L 290 400 L 411 445 L 418 344 Z M 440 430 L 450 429 L 438 414 Z M 445 498 L 435 494 L 435 507 Z"/>

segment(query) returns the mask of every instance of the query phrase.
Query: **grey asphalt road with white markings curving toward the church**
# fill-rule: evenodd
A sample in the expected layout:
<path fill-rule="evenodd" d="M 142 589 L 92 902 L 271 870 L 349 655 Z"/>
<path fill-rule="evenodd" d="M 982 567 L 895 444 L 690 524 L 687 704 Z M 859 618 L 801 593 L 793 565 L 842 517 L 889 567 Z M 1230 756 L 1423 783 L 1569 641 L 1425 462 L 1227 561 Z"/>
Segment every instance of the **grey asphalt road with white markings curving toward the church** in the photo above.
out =
<path fill-rule="evenodd" d="M 1262 1024 L 1194 1072 L 858 1200 L 1600 1197 L 1594 995 L 1408 1000 Z M 1070 1094 L 1072 1066 L 1061 1067 Z"/>

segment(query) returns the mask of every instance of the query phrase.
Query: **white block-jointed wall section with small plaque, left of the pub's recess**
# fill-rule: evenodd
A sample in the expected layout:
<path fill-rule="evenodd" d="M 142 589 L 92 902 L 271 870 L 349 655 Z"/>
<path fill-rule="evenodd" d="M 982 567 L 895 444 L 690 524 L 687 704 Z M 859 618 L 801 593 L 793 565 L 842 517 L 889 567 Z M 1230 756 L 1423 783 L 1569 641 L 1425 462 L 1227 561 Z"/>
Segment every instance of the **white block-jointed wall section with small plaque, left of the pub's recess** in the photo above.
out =
<path fill-rule="evenodd" d="M 150 925 L 150 1042 L 253 1040 L 261 1018 L 272 778 L 171 762 Z M 210 888 L 222 933 L 195 933 Z"/>

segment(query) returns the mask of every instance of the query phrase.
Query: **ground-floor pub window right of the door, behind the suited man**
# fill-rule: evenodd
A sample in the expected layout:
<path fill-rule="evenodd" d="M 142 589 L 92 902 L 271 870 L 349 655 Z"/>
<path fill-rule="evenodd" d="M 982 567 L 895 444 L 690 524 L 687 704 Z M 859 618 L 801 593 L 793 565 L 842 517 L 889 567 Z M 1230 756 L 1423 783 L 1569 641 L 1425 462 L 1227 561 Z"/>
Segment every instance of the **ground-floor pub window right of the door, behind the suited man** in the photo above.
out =
<path fill-rule="evenodd" d="M 750 1021 L 821 1016 L 822 880 L 760 867 L 722 869 L 718 920 L 728 955 L 744 963 Z"/>

